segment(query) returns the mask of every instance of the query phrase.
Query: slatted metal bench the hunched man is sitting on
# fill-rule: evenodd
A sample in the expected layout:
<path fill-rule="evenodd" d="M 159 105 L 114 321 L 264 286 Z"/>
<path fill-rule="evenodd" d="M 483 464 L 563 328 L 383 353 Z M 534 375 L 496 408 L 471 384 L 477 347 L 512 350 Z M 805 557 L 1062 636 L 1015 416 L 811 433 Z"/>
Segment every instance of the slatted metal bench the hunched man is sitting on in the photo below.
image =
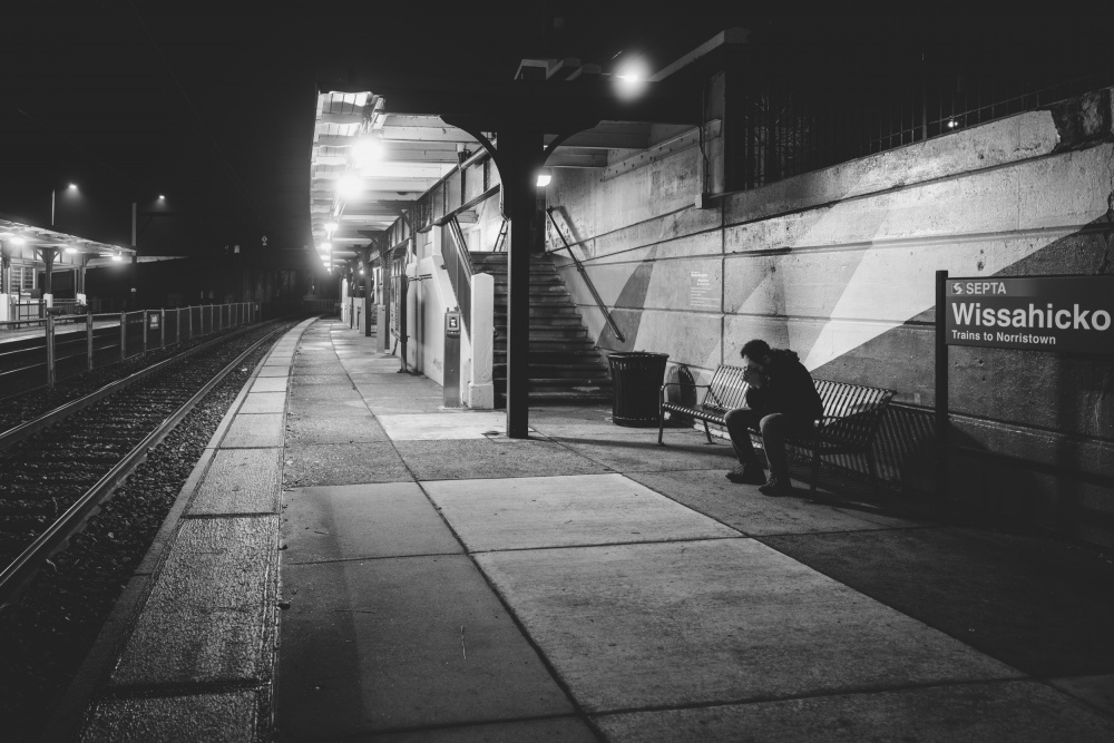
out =
<path fill-rule="evenodd" d="M 817 420 L 814 434 L 809 439 L 790 439 L 791 443 L 812 451 L 812 488 L 815 495 L 817 479 L 820 475 L 820 459 L 823 454 L 864 454 L 867 468 L 870 471 L 874 493 L 879 495 L 878 467 L 871 451 L 878 427 L 882 422 L 882 413 L 890 400 L 892 390 L 882 390 L 860 384 L 833 382 L 824 379 L 813 379 L 817 392 L 824 405 L 823 418 Z M 704 399 L 697 404 L 688 401 L 670 401 L 666 399 L 667 388 L 680 388 L 681 397 L 692 388 L 692 398 L 696 389 L 705 389 Z M 688 384 L 685 382 L 666 382 L 661 391 L 661 412 L 657 429 L 657 442 L 665 446 L 665 413 L 688 417 L 704 424 L 704 434 L 712 443 L 712 432 L 709 423 L 724 426 L 724 416 L 733 408 L 745 405 L 747 384 L 743 381 L 741 366 L 721 365 L 712 375 L 711 384 Z M 758 431 L 755 431 L 758 433 Z"/>

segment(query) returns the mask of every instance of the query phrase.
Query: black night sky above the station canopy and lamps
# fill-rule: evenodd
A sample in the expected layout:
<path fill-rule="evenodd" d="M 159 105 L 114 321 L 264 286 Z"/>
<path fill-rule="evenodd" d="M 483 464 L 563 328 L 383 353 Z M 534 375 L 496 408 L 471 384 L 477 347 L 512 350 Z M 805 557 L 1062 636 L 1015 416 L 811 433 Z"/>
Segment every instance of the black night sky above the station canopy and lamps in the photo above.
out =
<path fill-rule="evenodd" d="M 524 57 L 606 67 L 622 50 L 661 66 L 731 26 L 751 28 L 785 65 L 828 74 L 877 70 L 926 46 L 1076 63 L 1110 18 L 1110 3 L 1082 17 L 833 4 L 692 3 L 714 10 L 666 14 L 649 2 L 6 3 L 0 214 L 49 226 L 58 189 L 59 231 L 127 245 L 136 202 L 165 211 L 140 217 L 148 253 L 204 254 L 263 235 L 267 250 L 301 251 L 319 86 L 361 90 L 403 74 L 509 79 Z M 70 182 L 77 198 L 63 192 Z"/>

